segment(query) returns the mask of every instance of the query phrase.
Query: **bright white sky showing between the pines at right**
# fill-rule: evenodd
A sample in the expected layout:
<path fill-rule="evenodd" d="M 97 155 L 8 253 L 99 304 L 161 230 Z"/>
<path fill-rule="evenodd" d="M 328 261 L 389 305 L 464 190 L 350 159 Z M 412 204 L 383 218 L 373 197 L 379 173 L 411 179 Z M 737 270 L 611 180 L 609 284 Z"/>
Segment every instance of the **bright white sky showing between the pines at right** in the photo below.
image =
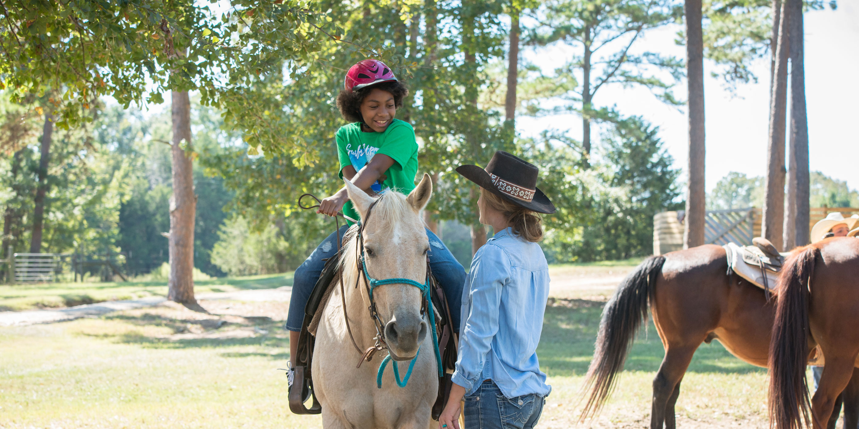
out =
<path fill-rule="evenodd" d="M 812 171 L 847 182 L 859 189 L 859 3 L 838 2 L 838 9 L 805 14 L 805 80 L 808 117 L 809 162 Z M 637 49 L 685 57 L 685 46 L 674 44 L 677 26 L 663 27 L 645 35 Z M 572 52 L 553 47 L 526 51 L 523 56 L 544 70 L 564 63 Z M 712 63 L 704 62 L 704 109 L 706 188 L 711 190 L 728 172 L 749 176 L 766 173 L 769 133 L 770 61 L 752 64 L 758 83 L 740 85 L 736 97 L 710 77 Z M 686 82 L 674 94 L 685 100 Z M 788 101 L 788 106 L 790 106 Z M 661 139 L 675 166 L 685 169 L 688 160 L 688 123 L 685 107 L 667 106 L 643 88 L 601 88 L 594 106 L 616 105 L 624 115 L 641 115 L 660 127 Z M 517 118 L 521 136 L 537 136 L 541 130 L 570 130 L 581 139 L 582 120 L 576 115 Z M 599 131 L 592 130 L 592 139 Z"/>

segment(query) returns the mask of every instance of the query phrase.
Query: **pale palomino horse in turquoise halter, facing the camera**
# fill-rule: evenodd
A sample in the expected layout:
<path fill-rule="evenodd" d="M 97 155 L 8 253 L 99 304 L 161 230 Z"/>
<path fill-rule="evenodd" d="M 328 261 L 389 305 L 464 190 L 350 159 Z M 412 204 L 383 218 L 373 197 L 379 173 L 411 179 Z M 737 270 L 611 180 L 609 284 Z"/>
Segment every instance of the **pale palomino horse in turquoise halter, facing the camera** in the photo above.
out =
<path fill-rule="evenodd" d="M 410 284 L 384 284 L 373 291 L 372 301 L 383 325 L 384 341 L 399 374 L 408 371 L 414 359 L 411 378 L 399 387 L 387 368 L 377 388 L 376 377 L 383 356 L 362 361 L 362 350 L 376 343 L 377 324 L 368 308 L 368 289 L 356 258 L 364 255 L 367 275 L 374 279 L 411 279 L 423 283 L 427 278 L 427 239 L 419 212 L 430 201 L 432 183 L 423 180 L 409 196 L 386 191 L 377 199 L 367 195 L 348 180 L 350 200 L 366 224 L 362 229 L 363 248 L 359 249 L 356 228 L 344 238 L 341 259 L 344 295 L 332 285 L 331 298 L 322 312 L 316 332 L 314 388 L 322 405 L 322 426 L 326 428 L 422 428 L 430 425 L 430 411 L 438 393 L 438 369 L 430 335 L 430 314 L 424 314 L 423 295 Z M 369 210 L 372 216 L 368 220 Z M 344 305 L 348 324 L 344 322 Z M 356 343 L 353 347 L 352 338 Z M 376 343 L 377 344 L 377 343 Z M 402 362 L 400 364 L 399 362 Z M 405 361 L 405 362 L 403 362 Z"/>

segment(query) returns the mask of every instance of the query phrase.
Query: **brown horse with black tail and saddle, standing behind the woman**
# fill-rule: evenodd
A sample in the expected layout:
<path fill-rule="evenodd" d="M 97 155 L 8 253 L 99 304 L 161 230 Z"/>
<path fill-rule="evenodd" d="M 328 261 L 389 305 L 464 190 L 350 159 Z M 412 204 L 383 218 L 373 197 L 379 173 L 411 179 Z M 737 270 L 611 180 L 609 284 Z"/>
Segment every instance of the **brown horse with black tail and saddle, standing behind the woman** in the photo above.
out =
<path fill-rule="evenodd" d="M 608 399 L 637 330 L 646 321 L 648 304 L 665 347 L 653 380 L 651 429 L 676 426 L 680 382 L 702 342 L 718 339 L 740 360 L 767 366 L 775 300 L 768 302 L 762 289 L 739 275 L 728 275 L 721 246 L 649 257 L 624 279 L 603 310 L 584 384 L 590 391 L 582 420 L 596 414 Z M 859 398 L 849 403 L 857 402 Z"/>

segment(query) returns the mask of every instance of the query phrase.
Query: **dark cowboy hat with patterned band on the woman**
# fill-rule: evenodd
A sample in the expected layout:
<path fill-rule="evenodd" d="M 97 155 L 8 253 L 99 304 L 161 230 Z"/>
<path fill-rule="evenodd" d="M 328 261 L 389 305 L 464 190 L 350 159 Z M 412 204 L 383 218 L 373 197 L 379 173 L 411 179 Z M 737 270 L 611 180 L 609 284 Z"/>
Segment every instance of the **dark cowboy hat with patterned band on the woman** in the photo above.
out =
<path fill-rule="evenodd" d="M 536 186 L 537 166 L 503 150 L 492 155 L 485 169 L 465 165 L 456 167 L 456 172 L 509 202 L 538 213 L 555 213 L 555 205 Z"/>

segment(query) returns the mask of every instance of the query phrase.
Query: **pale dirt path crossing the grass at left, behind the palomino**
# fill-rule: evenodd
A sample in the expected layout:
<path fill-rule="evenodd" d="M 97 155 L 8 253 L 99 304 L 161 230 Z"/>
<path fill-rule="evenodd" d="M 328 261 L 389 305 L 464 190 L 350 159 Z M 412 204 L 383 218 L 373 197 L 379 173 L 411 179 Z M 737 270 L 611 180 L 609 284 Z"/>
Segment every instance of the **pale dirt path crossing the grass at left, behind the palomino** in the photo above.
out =
<path fill-rule="evenodd" d="M 197 299 L 210 301 L 274 301 L 288 302 L 292 287 L 284 286 L 276 289 L 252 289 L 234 292 L 200 293 Z M 31 310 L 31 311 L 0 311 L 0 326 L 22 326 L 34 323 L 55 323 L 74 320 L 80 317 L 97 317 L 113 311 L 134 310 L 137 308 L 161 305 L 167 299 L 164 297 L 147 297 L 142 299 L 126 299 L 121 301 L 105 301 L 97 304 L 76 305 L 74 307 Z"/>

